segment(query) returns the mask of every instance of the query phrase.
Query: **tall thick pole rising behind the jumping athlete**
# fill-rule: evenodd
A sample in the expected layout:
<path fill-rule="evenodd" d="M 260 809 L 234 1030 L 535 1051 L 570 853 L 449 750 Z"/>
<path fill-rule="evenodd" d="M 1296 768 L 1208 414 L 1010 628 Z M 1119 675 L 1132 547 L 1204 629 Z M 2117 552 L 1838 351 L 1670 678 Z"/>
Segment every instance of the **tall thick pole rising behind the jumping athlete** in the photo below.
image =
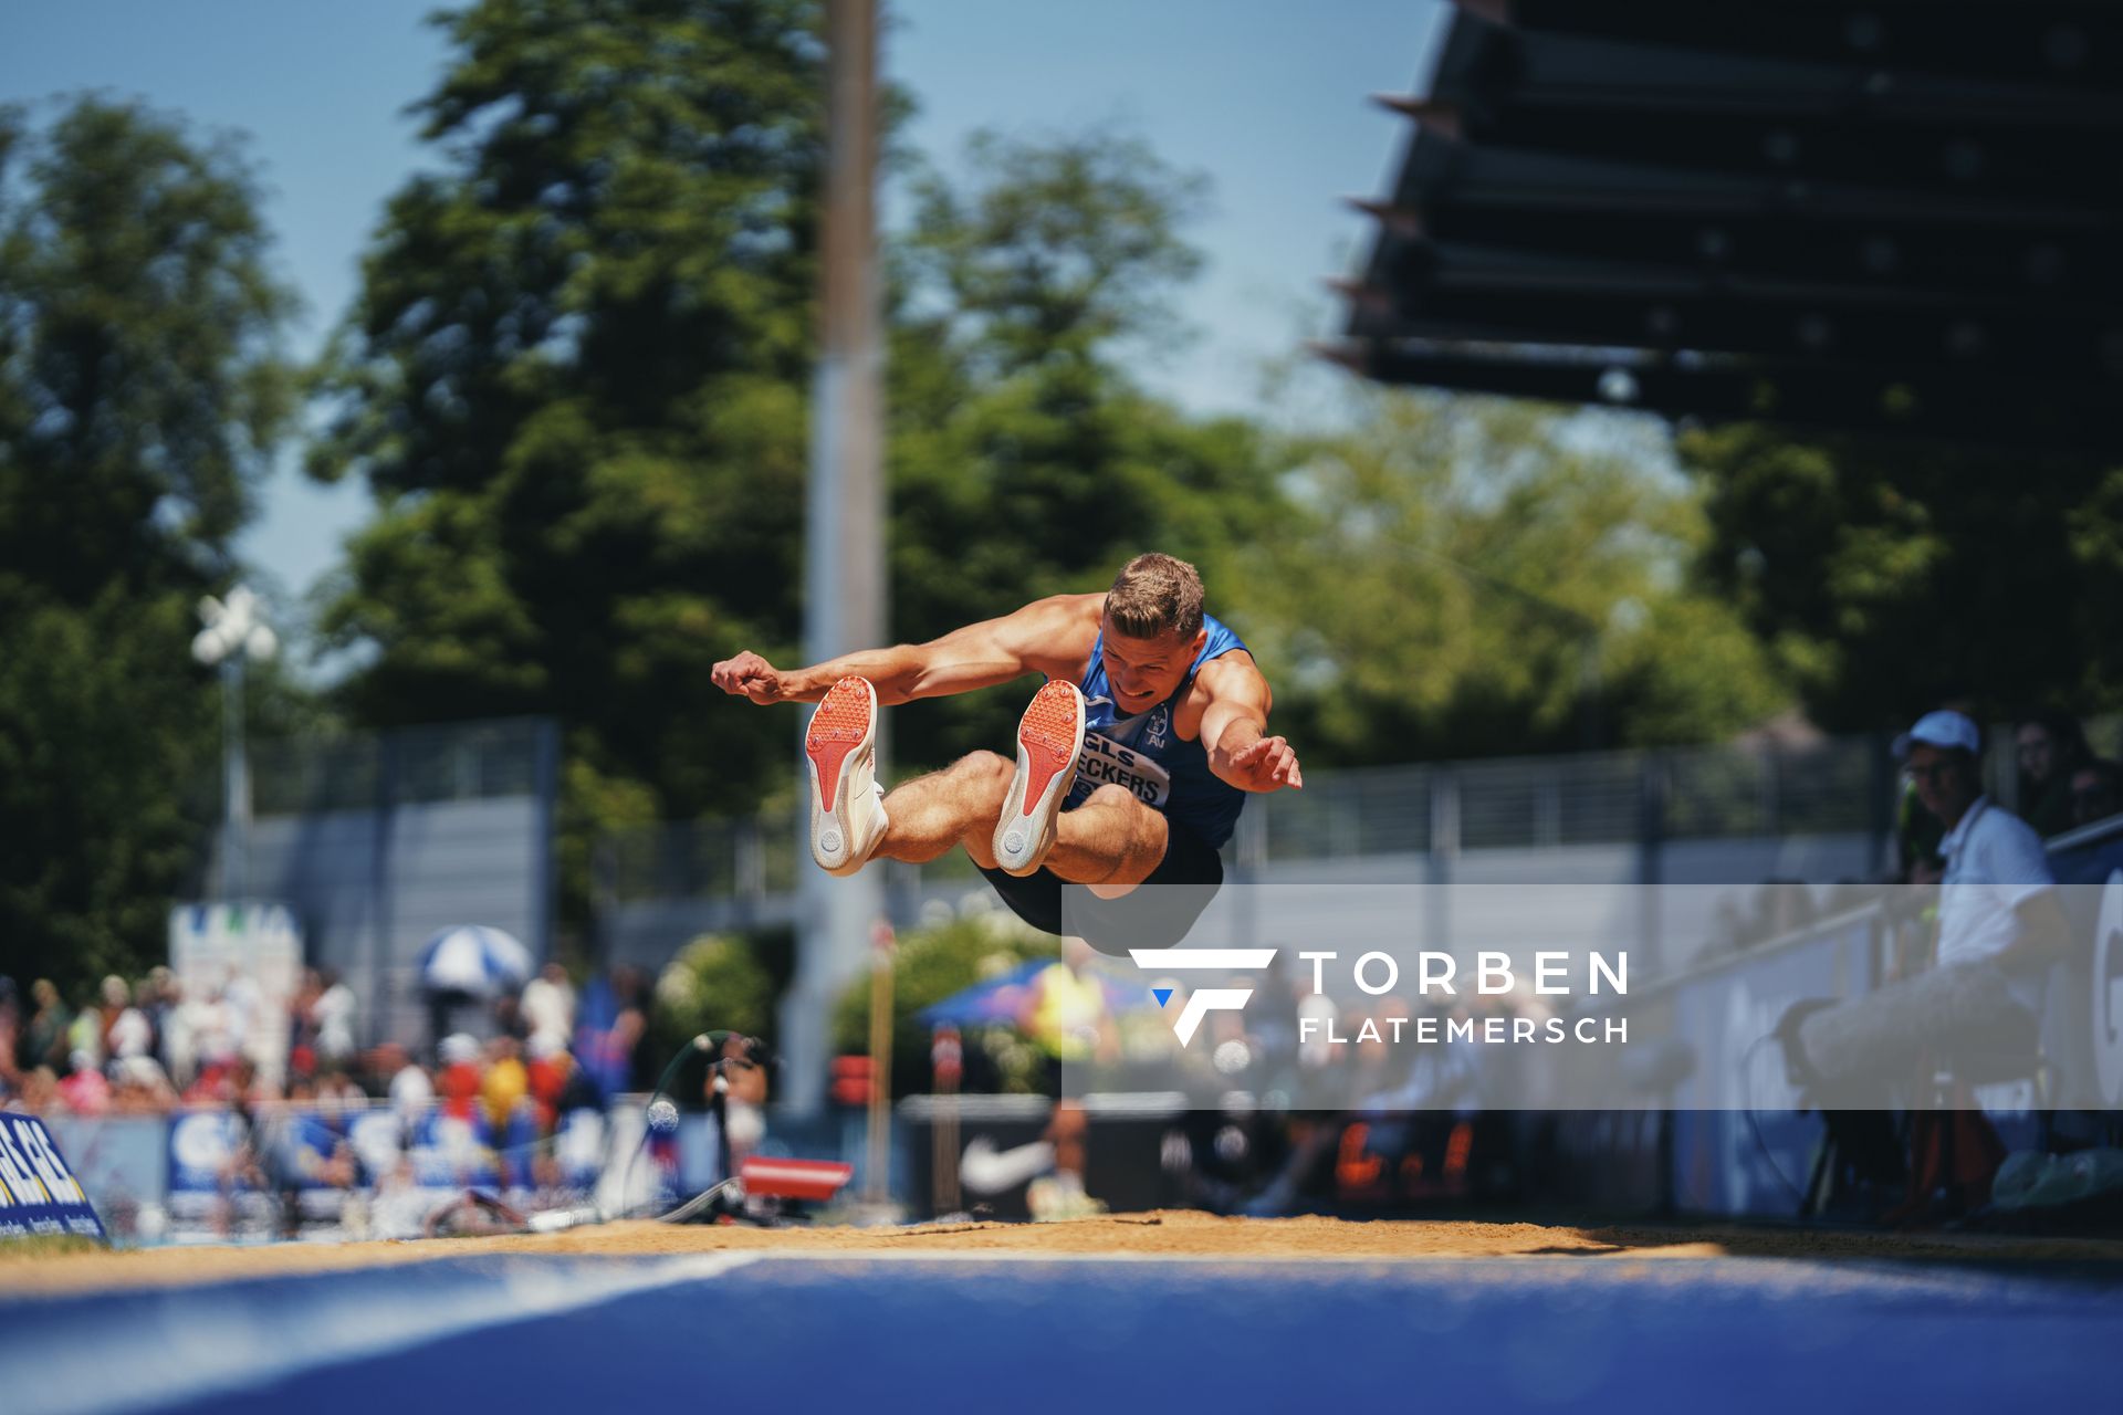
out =
<path fill-rule="evenodd" d="M 885 643 L 883 299 L 877 278 L 877 6 L 826 4 L 826 212 L 819 359 L 811 380 L 805 524 L 805 658 Z M 879 732 L 877 776 L 885 779 Z M 798 813 L 798 829 L 805 829 Z M 781 1095 L 796 1114 L 826 1101 L 834 997 L 858 978 L 883 919 L 881 866 L 832 878 L 798 844 L 800 948 L 781 1008 Z"/>

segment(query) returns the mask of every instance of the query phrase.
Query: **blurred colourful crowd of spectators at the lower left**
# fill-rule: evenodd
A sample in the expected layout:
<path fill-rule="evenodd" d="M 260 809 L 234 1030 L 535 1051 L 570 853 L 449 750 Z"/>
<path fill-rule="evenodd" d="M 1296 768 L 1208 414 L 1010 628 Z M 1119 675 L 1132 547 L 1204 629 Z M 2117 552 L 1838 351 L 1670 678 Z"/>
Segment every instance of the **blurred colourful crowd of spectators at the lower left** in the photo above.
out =
<path fill-rule="evenodd" d="M 607 1158 L 605 1107 L 650 1065 L 648 1001 L 633 969 L 577 989 L 550 963 L 414 1054 L 357 1044 L 357 997 L 331 969 L 304 972 L 284 1006 L 248 978 L 187 989 L 168 967 L 104 978 L 76 1006 L 49 978 L 28 995 L 0 978 L 0 1105 L 163 1120 L 170 1216 L 189 1194 L 217 1233 L 323 1220 L 418 1237 L 437 1194 L 584 1199 Z M 100 1207 L 134 1230 L 123 1203 Z"/>

